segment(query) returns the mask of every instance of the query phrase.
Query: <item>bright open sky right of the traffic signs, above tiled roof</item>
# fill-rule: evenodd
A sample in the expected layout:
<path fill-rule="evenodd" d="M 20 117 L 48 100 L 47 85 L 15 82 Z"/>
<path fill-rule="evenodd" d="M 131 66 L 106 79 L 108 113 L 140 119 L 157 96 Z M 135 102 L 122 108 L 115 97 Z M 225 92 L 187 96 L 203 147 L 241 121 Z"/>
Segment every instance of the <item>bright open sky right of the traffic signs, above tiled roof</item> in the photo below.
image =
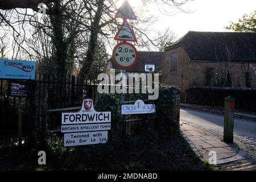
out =
<path fill-rule="evenodd" d="M 144 8 L 141 0 L 129 0 L 134 11 Z M 122 3 L 120 1 L 120 3 Z M 152 7 L 148 7 L 151 9 Z M 182 13 L 174 10 L 171 16 L 159 13 L 158 10 L 151 10 L 159 16 L 154 24 L 159 30 L 170 27 L 180 38 L 188 31 L 228 31 L 224 27 L 229 26 L 230 21 L 237 22 L 243 14 L 250 14 L 256 10 L 255 0 L 193 0 L 183 6 L 184 10 L 192 13 Z"/>

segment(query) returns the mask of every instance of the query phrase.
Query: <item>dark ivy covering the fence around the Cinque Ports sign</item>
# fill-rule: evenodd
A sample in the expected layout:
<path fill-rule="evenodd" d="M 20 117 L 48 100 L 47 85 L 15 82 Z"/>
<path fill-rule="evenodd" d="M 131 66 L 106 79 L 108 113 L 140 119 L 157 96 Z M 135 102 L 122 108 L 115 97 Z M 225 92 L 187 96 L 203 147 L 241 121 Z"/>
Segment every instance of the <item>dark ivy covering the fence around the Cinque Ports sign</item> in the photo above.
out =
<path fill-rule="evenodd" d="M 112 111 L 112 130 L 109 143 L 127 140 L 142 140 L 147 142 L 161 135 L 176 135 L 179 133 L 180 89 L 175 86 L 162 85 L 159 88 L 159 98 L 148 104 L 156 105 L 156 113 L 139 114 L 138 121 L 129 125 L 121 117 L 121 102 L 113 94 L 104 94 L 96 104 L 97 110 Z M 147 100 L 147 94 L 129 94 L 126 101 Z M 130 115 L 126 115 L 129 118 Z M 130 130 L 135 130 L 130 134 Z"/>

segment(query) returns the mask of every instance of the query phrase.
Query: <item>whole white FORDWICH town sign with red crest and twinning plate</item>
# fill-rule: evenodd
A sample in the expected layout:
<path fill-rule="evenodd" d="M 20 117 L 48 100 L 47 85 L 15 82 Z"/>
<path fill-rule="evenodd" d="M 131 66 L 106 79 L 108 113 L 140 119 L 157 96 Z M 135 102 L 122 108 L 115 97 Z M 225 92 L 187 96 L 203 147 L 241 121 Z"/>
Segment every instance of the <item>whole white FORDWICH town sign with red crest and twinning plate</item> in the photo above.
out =
<path fill-rule="evenodd" d="M 79 112 L 61 113 L 64 147 L 107 143 L 110 123 L 111 112 L 97 112 L 92 100 L 84 100 Z"/>

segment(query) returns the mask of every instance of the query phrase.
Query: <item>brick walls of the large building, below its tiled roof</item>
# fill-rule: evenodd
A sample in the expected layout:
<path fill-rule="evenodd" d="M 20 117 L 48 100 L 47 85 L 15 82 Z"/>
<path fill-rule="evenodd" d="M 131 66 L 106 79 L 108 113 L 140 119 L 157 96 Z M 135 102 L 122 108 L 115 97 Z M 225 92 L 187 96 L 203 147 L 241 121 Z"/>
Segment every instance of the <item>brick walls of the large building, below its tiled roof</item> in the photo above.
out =
<path fill-rule="evenodd" d="M 177 72 L 171 72 L 171 53 L 177 52 Z M 256 67 L 256 63 L 252 63 Z M 195 61 L 190 60 L 185 50 L 177 47 L 166 51 L 163 58 L 160 82 L 175 85 L 181 88 L 181 100 L 185 98 L 185 90 L 191 86 L 205 86 L 207 69 L 211 69 L 212 80 L 210 86 L 214 86 L 221 74 L 224 73 L 225 64 L 222 61 Z M 249 63 L 232 62 L 230 64 L 230 78 L 233 87 L 244 88 L 245 73 L 250 72 L 251 86 L 256 88 L 256 75 Z M 216 74 L 218 73 L 218 74 Z M 220 79 L 219 79 L 220 80 Z"/>

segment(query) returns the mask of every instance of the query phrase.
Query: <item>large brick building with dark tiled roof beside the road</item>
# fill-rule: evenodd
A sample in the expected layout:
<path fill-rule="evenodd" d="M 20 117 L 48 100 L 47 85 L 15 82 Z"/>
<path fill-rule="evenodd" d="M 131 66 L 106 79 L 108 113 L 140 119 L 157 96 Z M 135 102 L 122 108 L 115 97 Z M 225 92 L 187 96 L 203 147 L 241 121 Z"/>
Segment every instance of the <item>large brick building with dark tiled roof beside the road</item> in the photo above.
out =
<path fill-rule="evenodd" d="M 179 86 L 182 100 L 193 86 L 256 88 L 256 34 L 189 31 L 161 65 L 160 81 Z"/>

